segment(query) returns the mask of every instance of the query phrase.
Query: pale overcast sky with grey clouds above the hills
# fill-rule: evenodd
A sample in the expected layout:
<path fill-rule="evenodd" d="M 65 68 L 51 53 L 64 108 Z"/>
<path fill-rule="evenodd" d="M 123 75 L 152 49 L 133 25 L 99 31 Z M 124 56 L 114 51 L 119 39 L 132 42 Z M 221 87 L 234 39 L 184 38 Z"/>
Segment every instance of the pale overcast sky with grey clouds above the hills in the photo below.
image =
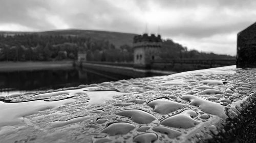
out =
<path fill-rule="evenodd" d="M 237 33 L 255 21 L 253 0 L 0 0 L 1 31 L 81 28 L 142 34 L 157 33 L 159 26 L 163 38 L 188 49 L 230 55 L 236 54 Z"/>

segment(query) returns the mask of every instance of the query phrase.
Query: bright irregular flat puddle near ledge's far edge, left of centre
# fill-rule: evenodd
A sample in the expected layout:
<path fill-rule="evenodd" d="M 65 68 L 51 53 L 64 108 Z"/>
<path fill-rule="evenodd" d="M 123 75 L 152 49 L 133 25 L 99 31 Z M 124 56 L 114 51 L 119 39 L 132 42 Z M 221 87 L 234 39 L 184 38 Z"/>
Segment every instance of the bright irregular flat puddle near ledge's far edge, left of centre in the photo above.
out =
<path fill-rule="evenodd" d="M 66 91 L 57 91 L 57 92 L 51 92 L 51 93 L 38 94 L 33 97 L 49 98 L 57 95 L 74 96 L 76 94 L 85 94 L 90 97 L 90 100 L 87 104 L 100 105 L 100 104 L 104 104 L 106 100 L 115 100 L 113 96 L 128 94 L 128 93 L 118 92 L 116 90 L 101 91 L 97 89 L 98 89 L 97 87 L 89 87 L 89 88 L 82 88 L 82 89 L 75 89 L 75 90 L 66 90 Z"/>

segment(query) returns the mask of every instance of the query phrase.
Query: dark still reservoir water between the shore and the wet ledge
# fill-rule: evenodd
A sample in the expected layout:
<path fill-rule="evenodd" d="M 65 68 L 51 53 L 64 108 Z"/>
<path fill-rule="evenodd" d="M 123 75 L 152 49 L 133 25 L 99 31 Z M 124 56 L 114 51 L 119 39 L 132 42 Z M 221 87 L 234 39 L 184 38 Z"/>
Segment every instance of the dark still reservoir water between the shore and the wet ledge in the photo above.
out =
<path fill-rule="evenodd" d="M 132 77 L 76 68 L 0 72 L 0 96 L 129 78 Z"/>

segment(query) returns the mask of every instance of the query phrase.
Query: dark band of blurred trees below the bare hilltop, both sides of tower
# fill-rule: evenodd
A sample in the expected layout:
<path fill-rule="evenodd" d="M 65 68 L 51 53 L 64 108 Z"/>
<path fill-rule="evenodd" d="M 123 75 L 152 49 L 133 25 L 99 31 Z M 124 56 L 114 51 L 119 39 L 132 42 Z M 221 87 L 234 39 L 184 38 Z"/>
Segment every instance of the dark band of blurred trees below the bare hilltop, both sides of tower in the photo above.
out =
<path fill-rule="evenodd" d="M 0 35 L 0 61 L 76 60 L 78 52 L 86 52 L 88 61 L 133 62 L 130 45 L 116 47 L 108 40 L 77 36 L 39 34 Z M 160 58 L 167 59 L 230 59 L 229 55 L 187 50 L 172 40 L 163 40 Z"/>

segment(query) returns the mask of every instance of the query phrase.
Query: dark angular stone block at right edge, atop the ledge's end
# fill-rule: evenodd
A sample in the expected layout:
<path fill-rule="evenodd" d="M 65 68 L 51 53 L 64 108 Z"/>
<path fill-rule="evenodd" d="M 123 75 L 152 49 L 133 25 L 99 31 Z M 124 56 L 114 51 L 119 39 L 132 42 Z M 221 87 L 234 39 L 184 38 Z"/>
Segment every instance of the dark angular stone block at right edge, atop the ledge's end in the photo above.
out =
<path fill-rule="evenodd" d="M 256 22 L 238 33 L 237 67 L 256 67 Z"/>

